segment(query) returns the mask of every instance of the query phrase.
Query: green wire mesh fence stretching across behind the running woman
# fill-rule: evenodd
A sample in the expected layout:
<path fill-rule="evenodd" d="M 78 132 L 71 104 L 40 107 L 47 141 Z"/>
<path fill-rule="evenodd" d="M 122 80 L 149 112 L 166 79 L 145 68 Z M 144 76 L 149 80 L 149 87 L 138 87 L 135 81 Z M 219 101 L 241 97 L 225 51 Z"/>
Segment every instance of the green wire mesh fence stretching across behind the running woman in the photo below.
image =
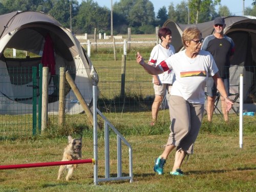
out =
<path fill-rule="evenodd" d="M 101 112 L 115 114 L 117 119 L 121 119 L 122 113 L 151 111 L 151 106 L 154 101 L 152 76 L 147 74 L 135 60 L 126 60 L 125 76 L 121 74 L 121 60 L 96 60 L 93 61 L 93 65 L 99 76 L 97 107 Z M 32 136 L 33 89 L 28 87 L 28 85 L 32 85 L 32 66 L 26 68 L 17 68 L 14 66 L 3 68 L 0 66 L 0 68 L 0 137 Z M 240 74 L 243 73 L 245 79 L 244 103 L 255 103 L 255 66 L 234 66 L 232 68 L 241 69 L 230 71 L 230 77 L 235 79 L 232 81 L 230 89 L 232 88 L 233 92 L 239 91 L 239 81 L 237 81 L 236 78 L 239 79 Z M 70 71 L 79 91 L 84 96 L 89 107 L 91 107 L 93 93 L 91 81 L 86 72 L 88 69 L 67 67 L 66 70 Z M 38 71 L 37 68 L 36 76 L 39 85 Z M 48 91 L 48 123 L 50 126 L 55 127 L 58 126 L 58 71 L 59 69 L 56 69 L 56 75 L 49 76 Z M 121 83 L 122 80 L 124 80 L 124 84 Z M 124 89 L 124 95 L 121 95 L 122 89 Z M 39 91 L 37 92 L 37 96 L 38 94 Z M 38 105 L 38 99 L 36 103 Z M 65 104 L 66 126 L 79 127 L 90 123 L 87 116 L 83 114 L 82 106 L 67 82 L 65 84 Z M 235 105 L 236 110 L 238 106 L 239 104 L 237 103 Z M 166 110 L 165 113 L 166 118 L 168 118 L 168 110 Z M 38 111 L 36 118 L 38 121 Z M 37 133 L 39 133 L 38 127 Z"/>

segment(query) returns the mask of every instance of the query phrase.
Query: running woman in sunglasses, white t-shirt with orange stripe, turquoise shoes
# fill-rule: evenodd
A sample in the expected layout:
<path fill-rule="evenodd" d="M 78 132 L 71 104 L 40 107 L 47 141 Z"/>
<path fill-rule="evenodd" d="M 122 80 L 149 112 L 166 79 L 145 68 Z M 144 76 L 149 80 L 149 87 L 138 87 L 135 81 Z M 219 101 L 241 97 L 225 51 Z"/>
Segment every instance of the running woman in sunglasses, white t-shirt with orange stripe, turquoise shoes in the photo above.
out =
<path fill-rule="evenodd" d="M 161 175 L 169 153 L 177 147 L 175 162 L 170 175 L 182 176 L 180 169 L 186 155 L 193 154 L 194 142 L 198 136 L 204 113 L 204 88 L 208 76 L 212 76 L 220 94 L 225 98 L 227 111 L 233 102 L 228 98 L 218 68 L 211 54 L 201 50 L 202 35 L 198 28 L 189 27 L 183 31 L 182 42 L 185 47 L 158 66 L 147 65 L 137 53 L 137 62 L 152 75 L 173 70 L 176 80 L 170 92 L 170 134 L 164 152 L 156 159 L 154 171 Z"/>

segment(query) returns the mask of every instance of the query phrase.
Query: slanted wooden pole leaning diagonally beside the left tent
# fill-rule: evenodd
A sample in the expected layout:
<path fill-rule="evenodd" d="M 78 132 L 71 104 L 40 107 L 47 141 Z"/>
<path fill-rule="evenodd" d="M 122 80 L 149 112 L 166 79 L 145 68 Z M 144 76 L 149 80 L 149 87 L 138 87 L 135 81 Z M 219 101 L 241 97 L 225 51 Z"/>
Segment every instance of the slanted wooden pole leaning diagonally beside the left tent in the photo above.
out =
<path fill-rule="evenodd" d="M 89 120 L 91 121 L 92 125 L 93 125 L 93 113 L 91 112 L 91 110 L 89 109 L 89 106 L 87 105 L 86 101 L 84 101 L 82 94 L 80 93 L 79 89 L 77 88 L 74 80 L 72 79 L 71 75 L 69 74 L 69 71 L 66 72 L 66 79 L 70 84 L 71 89 L 73 90 L 73 92 L 76 95 L 76 98 L 78 99 L 78 101 L 80 102 L 84 112 L 86 112 L 86 115 L 88 116 Z M 98 129 L 99 129 L 99 124 L 98 124 Z"/>

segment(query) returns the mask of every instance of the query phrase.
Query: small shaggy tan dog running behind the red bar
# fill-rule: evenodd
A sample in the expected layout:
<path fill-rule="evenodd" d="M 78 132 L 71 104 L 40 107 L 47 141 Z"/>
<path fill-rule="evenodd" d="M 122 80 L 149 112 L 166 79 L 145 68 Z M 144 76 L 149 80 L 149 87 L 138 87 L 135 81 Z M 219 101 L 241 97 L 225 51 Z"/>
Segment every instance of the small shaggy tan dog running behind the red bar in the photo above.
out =
<path fill-rule="evenodd" d="M 71 136 L 68 136 L 69 144 L 66 146 L 63 158 L 61 161 L 71 161 L 71 160 L 77 160 L 82 158 L 82 139 L 73 139 Z M 66 180 L 68 181 L 74 172 L 74 169 L 77 167 L 77 164 L 72 165 L 60 165 L 59 167 L 59 174 L 58 174 L 58 180 L 60 179 L 60 176 L 63 173 L 64 169 L 68 170 L 68 174 L 66 176 Z"/>

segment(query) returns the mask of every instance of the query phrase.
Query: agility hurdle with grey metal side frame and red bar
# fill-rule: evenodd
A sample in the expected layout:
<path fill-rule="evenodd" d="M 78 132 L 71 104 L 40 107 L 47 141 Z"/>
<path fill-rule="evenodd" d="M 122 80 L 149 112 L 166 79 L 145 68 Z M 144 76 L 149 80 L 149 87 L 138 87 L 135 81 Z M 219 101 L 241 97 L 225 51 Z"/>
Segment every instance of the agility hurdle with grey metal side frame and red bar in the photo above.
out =
<path fill-rule="evenodd" d="M 93 85 L 93 150 L 94 159 L 83 159 L 73 161 L 55 161 L 55 162 L 41 162 L 41 163 L 27 163 L 27 164 L 14 164 L 14 165 L 0 165 L 1 169 L 16 169 L 16 168 L 31 168 L 31 167 L 44 167 L 44 166 L 57 166 L 69 164 L 94 164 L 94 184 L 98 185 L 100 181 L 114 181 L 114 180 L 127 180 L 133 181 L 133 151 L 132 146 L 127 142 L 124 137 L 115 129 L 106 117 L 97 109 L 97 86 Z M 104 149 L 105 149 L 105 178 L 98 178 L 98 123 L 97 114 L 104 120 Z M 109 127 L 117 135 L 117 177 L 110 177 L 110 147 L 109 147 Z M 129 176 L 122 176 L 122 141 L 129 147 Z"/>

